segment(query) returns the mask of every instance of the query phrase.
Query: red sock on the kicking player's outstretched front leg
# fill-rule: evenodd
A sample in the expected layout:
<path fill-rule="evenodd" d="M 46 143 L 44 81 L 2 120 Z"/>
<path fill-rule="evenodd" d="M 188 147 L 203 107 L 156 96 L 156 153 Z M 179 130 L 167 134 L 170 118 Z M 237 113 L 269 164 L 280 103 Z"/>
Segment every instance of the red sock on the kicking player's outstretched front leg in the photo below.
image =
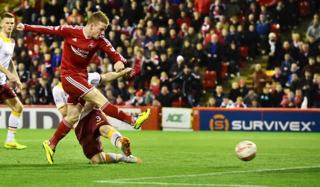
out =
<path fill-rule="evenodd" d="M 112 105 L 108 101 L 104 103 L 101 107 L 101 110 L 108 116 L 116 118 L 120 121 L 123 121 L 128 124 L 133 124 L 134 121 L 132 116 L 125 114 L 122 110 L 118 109 L 116 106 Z"/>

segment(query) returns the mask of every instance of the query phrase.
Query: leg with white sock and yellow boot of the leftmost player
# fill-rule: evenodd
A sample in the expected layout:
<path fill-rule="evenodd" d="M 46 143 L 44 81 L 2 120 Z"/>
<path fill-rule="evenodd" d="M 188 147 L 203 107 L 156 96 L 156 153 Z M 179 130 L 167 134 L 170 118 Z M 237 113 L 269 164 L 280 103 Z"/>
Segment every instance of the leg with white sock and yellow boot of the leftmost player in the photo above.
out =
<path fill-rule="evenodd" d="M 17 97 L 5 99 L 4 103 L 6 103 L 12 110 L 8 120 L 8 133 L 4 147 L 7 149 L 25 149 L 26 146 L 18 144 L 14 138 L 16 129 L 20 122 L 23 105 Z"/>

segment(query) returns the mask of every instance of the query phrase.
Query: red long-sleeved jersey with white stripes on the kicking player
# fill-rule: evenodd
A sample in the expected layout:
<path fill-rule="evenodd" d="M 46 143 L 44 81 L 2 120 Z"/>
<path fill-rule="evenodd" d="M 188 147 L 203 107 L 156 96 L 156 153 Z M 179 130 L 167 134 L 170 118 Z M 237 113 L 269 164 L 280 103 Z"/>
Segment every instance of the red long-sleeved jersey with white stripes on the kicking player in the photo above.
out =
<path fill-rule="evenodd" d="M 83 27 L 79 25 L 42 26 L 24 24 L 25 31 L 64 37 L 61 77 L 80 75 L 85 76 L 87 79 L 87 66 L 98 49 L 106 52 L 114 62 L 121 61 L 124 64 L 126 63 L 126 59 L 115 51 L 105 37 L 100 37 L 99 39 L 89 38 L 85 36 Z"/>

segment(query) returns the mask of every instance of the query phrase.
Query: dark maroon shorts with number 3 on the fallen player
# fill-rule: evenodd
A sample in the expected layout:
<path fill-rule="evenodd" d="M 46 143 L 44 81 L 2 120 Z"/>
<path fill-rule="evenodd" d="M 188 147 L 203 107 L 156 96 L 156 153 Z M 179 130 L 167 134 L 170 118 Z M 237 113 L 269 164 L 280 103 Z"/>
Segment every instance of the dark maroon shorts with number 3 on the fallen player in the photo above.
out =
<path fill-rule="evenodd" d="M 85 157 L 88 159 L 103 152 L 99 132 L 99 128 L 102 125 L 111 124 L 100 111 L 93 110 L 82 118 L 75 128 L 76 138 L 82 147 Z"/>

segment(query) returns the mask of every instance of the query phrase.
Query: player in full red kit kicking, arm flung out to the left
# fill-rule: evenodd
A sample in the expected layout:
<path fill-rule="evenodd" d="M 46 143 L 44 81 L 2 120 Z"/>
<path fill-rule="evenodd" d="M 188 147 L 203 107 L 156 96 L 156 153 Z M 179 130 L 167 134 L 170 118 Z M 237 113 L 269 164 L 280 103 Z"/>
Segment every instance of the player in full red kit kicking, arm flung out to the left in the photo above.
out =
<path fill-rule="evenodd" d="M 59 123 L 52 138 L 42 144 L 49 164 L 53 164 L 53 154 L 58 141 L 78 121 L 85 101 L 96 105 L 108 116 L 132 125 L 135 129 L 140 128 L 150 115 L 150 109 L 136 117 L 125 114 L 109 103 L 96 88 L 88 83 L 87 66 L 97 50 L 103 50 L 112 58 L 115 62 L 114 69 L 116 72 L 123 69 L 126 63 L 122 55 L 117 53 L 111 43 L 104 38 L 104 31 L 108 24 L 109 19 L 107 16 L 103 12 L 97 11 L 92 13 L 85 26 L 42 26 L 22 23 L 16 26 L 19 31 L 31 31 L 64 37 L 60 77 L 63 89 L 69 95 L 67 99 L 67 115 Z"/>

